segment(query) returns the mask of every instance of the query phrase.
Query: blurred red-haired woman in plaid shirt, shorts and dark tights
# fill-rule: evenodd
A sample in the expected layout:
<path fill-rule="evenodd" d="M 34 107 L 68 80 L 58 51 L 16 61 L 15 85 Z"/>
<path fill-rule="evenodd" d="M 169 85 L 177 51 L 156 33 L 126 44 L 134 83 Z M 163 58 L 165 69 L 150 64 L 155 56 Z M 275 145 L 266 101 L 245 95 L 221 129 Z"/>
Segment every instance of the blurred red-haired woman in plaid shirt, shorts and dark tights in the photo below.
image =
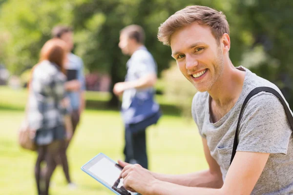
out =
<path fill-rule="evenodd" d="M 65 152 L 66 139 L 72 137 L 69 99 L 66 98 L 65 90 L 66 54 L 67 48 L 63 40 L 48 40 L 42 47 L 40 62 L 32 69 L 29 83 L 27 120 L 38 146 L 35 178 L 39 195 L 48 195 L 57 158 L 60 158 L 70 182 Z M 44 185 L 41 174 L 43 160 L 46 162 Z"/>

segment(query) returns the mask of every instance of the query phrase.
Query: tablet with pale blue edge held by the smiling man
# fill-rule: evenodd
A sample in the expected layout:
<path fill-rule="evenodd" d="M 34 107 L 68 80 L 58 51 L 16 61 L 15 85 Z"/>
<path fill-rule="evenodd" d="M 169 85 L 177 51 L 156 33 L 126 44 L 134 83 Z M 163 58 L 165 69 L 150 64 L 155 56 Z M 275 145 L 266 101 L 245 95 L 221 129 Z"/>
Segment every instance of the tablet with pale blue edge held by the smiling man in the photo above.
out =
<path fill-rule="evenodd" d="M 139 195 L 123 187 L 123 178 L 119 179 L 123 168 L 103 153 L 92 158 L 81 169 L 116 195 Z"/>

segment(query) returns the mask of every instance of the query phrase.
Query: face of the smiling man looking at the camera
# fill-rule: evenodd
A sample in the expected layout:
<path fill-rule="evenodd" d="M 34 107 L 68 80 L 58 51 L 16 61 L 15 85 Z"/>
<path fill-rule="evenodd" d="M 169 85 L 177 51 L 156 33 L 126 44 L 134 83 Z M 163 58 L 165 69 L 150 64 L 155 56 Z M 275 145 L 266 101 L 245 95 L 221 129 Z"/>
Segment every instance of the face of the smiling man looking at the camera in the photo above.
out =
<path fill-rule="evenodd" d="M 176 30 L 170 40 L 181 73 L 198 91 L 209 91 L 224 70 L 222 48 L 209 26 L 194 22 Z"/>

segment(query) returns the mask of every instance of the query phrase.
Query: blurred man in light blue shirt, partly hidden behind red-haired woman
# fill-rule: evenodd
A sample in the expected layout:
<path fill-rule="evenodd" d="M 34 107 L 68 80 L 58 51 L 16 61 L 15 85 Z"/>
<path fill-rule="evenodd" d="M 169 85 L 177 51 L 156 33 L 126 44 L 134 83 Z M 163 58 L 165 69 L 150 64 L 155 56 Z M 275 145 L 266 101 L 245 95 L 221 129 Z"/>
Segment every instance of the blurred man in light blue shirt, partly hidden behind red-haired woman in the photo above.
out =
<path fill-rule="evenodd" d="M 61 25 L 56 26 L 52 30 L 52 37 L 62 39 L 67 46 L 67 63 L 65 64 L 67 82 L 65 83 L 65 89 L 70 99 L 70 115 L 74 134 L 85 106 L 84 63 L 81 58 L 71 53 L 74 46 L 72 28 Z M 67 149 L 69 142 L 70 140 L 67 142 L 64 150 Z M 68 180 L 67 182 L 69 183 L 69 187 L 76 187 L 74 183 Z"/>

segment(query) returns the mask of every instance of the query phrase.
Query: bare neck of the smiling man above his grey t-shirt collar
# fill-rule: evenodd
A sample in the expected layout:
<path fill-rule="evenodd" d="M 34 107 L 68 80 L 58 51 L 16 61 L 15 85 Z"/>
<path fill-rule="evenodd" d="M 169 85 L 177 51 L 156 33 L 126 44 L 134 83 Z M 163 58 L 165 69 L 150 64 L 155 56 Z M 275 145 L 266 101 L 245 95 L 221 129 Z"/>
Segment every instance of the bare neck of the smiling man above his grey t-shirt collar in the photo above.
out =
<path fill-rule="evenodd" d="M 223 73 L 208 91 L 212 101 L 220 107 L 229 105 L 240 97 L 245 78 L 245 72 L 236 69 L 230 59 L 225 63 Z"/>

